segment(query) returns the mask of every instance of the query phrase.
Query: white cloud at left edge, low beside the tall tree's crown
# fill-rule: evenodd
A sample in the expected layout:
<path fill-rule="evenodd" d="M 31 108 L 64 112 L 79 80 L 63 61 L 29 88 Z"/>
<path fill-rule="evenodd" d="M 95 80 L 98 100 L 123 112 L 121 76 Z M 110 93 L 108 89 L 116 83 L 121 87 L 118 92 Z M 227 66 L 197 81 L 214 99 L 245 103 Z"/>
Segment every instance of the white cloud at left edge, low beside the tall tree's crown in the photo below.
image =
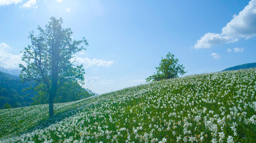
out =
<path fill-rule="evenodd" d="M 14 55 L 9 53 L 11 47 L 6 43 L 0 43 L 0 66 L 6 69 L 19 69 L 19 64 L 23 63 L 22 53 Z"/>

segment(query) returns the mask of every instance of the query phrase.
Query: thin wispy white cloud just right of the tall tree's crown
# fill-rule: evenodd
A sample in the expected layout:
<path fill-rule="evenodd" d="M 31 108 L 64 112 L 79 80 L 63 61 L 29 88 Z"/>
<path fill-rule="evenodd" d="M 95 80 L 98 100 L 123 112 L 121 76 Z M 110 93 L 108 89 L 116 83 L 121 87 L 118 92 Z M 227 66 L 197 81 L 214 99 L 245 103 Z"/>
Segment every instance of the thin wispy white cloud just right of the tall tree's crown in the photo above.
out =
<path fill-rule="evenodd" d="M 78 64 L 83 64 L 83 66 L 86 69 L 88 69 L 89 67 L 93 67 L 93 66 L 110 67 L 115 63 L 114 61 L 98 60 L 97 58 L 90 60 L 89 58 L 75 57 L 75 59 L 78 62 Z M 74 58 L 72 60 L 74 60 Z"/>

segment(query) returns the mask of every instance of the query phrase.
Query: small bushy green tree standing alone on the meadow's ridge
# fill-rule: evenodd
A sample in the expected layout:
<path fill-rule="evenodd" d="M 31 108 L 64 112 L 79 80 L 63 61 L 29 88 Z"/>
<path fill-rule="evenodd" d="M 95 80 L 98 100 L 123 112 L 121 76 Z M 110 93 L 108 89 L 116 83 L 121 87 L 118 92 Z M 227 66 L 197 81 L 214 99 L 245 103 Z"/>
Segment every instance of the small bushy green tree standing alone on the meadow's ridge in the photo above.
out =
<path fill-rule="evenodd" d="M 174 58 L 174 54 L 170 52 L 166 55 L 166 58 L 162 58 L 159 66 L 156 67 L 156 73 L 152 76 L 146 78 L 146 82 L 156 82 L 163 79 L 172 79 L 174 77 L 179 77 L 178 74 L 183 75 L 186 73 L 184 71 L 183 65 L 177 64 L 179 59 Z"/>

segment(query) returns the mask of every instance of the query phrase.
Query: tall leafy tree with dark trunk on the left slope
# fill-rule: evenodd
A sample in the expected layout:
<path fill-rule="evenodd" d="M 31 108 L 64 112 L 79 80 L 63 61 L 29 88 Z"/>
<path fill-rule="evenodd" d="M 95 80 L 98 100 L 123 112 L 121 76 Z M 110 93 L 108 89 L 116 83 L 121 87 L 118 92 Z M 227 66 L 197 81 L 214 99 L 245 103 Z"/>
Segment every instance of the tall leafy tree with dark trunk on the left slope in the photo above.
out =
<path fill-rule="evenodd" d="M 88 45 L 85 38 L 73 41 L 70 28 L 63 29 L 62 18 L 57 20 L 51 17 L 46 29 L 38 26 L 39 34 L 29 33 L 31 45 L 23 51 L 22 60 L 26 65 L 20 64 L 23 81 L 33 80 L 37 86 L 44 89 L 49 102 L 49 116 L 53 117 L 53 102 L 59 85 L 65 82 L 77 82 L 83 84 L 85 70 L 83 66 L 74 66 L 74 54 L 86 50 L 80 46 Z"/>

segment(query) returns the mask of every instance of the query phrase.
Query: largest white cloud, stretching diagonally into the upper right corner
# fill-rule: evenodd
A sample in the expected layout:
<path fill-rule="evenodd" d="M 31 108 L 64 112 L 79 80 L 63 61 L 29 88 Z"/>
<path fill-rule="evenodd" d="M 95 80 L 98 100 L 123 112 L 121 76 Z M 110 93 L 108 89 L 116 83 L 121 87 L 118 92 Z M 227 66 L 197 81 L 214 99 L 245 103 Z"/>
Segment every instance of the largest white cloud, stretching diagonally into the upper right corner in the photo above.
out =
<path fill-rule="evenodd" d="M 256 0 L 252 0 L 238 15 L 222 28 L 222 33 L 206 33 L 194 48 L 210 48 L 214 45 L 239 41 L 239 38 L 249 39 L 256 36 Z"/>

